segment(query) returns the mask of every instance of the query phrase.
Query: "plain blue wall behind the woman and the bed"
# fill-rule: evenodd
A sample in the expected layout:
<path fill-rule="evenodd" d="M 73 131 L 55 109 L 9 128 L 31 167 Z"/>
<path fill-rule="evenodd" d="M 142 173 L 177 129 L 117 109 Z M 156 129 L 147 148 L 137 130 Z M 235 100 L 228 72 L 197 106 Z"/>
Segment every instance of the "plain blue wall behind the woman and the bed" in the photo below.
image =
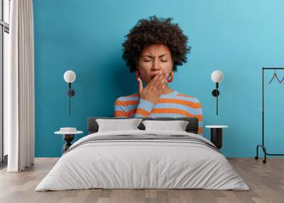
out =
<path fill-rule="evenodd" d="M 173 17 L 192 46 L 170 87 L 202 101 L 204 125 L 229 126 L 224 155 L 254 156 L 261 142 L 261 67 L 284 66 L 283 8 L 281 0 L 34 0 L 35 156 L 59 157 L 63 141 L 54 131 L 75 126 L 86 132 L 87 116 L 113 116 L 115 99 L 137 91 L 121 43 L 138 19 L 152 15 Z M 71 116 L 66 70 L 77 74 Z M 213 70 L 224 72 L 219 116 L 211 95 Z M 268 85 L 272 74 L 266 75 L 266 141 L 269 152 L 277 153 L 284 146 L 284 84 Z M 207 128 L 204 136 L 209 138 Z"/>

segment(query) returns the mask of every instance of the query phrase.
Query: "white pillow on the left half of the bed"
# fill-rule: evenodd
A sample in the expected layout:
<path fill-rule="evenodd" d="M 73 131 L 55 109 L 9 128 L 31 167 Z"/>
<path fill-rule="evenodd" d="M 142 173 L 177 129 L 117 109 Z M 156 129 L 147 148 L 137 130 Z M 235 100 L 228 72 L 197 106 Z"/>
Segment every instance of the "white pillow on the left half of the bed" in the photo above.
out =
<path fill-rule="evenodd" d="M 96 119 L 98 132 L 139 130 L 142 119 Z"/>

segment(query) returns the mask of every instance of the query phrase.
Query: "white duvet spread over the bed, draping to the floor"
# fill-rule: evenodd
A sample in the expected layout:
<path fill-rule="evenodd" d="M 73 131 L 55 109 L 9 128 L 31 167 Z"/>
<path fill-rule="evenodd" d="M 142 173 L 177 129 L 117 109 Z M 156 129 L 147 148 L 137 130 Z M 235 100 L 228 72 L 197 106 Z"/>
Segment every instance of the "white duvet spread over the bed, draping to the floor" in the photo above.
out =
<path fill-rule="evenodd" d="M 80 143 L 93 136 L 186 135 L 181 131 L 111 131 L 76 141 L 62 155 L 35 191 L 104 189 L 249 190 L 221 153 L 187 141 L 101 141 Z M 77 146 L 77 147 L 76 147 Z"/>

